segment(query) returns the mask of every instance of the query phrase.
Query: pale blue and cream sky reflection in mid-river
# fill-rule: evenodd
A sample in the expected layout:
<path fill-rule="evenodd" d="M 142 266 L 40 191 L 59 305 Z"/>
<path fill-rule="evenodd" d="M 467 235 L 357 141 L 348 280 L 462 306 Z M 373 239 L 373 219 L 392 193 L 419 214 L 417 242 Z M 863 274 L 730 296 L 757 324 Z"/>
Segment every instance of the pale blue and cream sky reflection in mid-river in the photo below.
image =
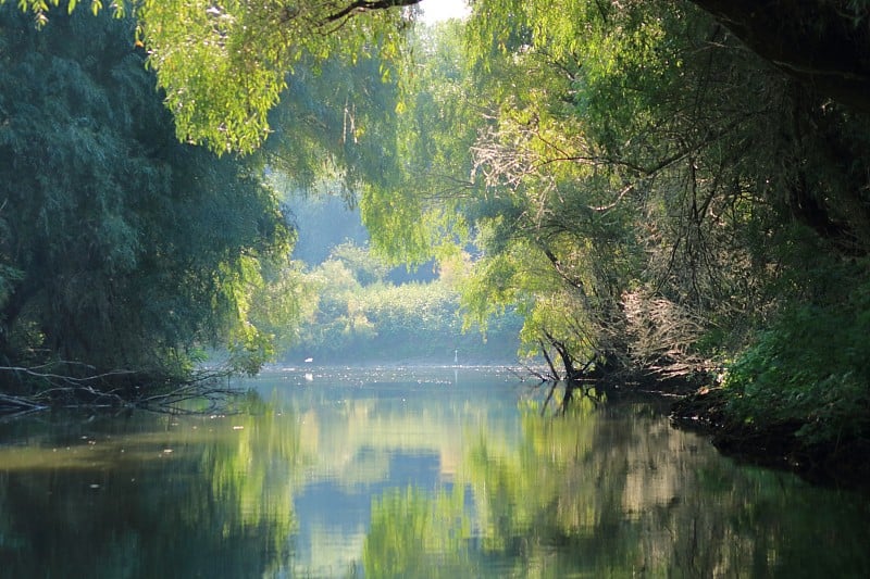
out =
<path fill-rule="evenodd" d="M 353 565 L 360 570 L 374 498 L 393 489 L 449 491 L 463 431 L 476 435 L 499 423 L 506 435 L 517 435 L 518 400 L 526 389 L 506 370 L 469 367 L 293 367 L 257 383 L 263 395 L 287 385 L 278 387 L 279 403 L 318 423 L 319 465 L 294 500 L 295 568 L 314 576 L 347 575 Z M 349 420 L 364 424 L 369 442 L 360 445 Z M 473 509 L 471 490 L 467 498 Z"/>

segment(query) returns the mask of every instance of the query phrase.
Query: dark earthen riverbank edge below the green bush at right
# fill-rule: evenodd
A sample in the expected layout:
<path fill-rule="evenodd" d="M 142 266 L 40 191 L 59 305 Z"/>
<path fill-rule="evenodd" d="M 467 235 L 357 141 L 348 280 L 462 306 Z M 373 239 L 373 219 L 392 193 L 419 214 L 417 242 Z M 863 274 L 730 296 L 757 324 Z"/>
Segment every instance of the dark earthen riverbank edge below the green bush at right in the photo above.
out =
<path fill-rule="evenodd" d="M 811 442 L 798 435 L 799 420 L 741 423 L 726 412 L 722 388 L 703 388 L 674 402 L 671 420 L 709 436 L 723 454 L 741 462 L 797 473 L 819 484 L 870 491 L 870 440 L 841 438 Z"/>

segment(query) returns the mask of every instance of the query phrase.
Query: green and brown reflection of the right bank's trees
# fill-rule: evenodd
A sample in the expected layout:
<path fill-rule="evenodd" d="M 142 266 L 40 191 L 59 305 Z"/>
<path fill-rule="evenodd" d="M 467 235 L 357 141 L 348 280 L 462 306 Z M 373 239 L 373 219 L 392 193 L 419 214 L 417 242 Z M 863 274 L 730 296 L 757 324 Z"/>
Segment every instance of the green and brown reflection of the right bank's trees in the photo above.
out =
<path fill-rule="evenodd" d="M 648 404 L 586 401 L 563 418 L 530 411 L 522 432 L 510 448 L 482 430 L 452 490 L 376 499 L 366 576 L 863 577 L 870 569 L 866 501 L 737 467 Z"/>

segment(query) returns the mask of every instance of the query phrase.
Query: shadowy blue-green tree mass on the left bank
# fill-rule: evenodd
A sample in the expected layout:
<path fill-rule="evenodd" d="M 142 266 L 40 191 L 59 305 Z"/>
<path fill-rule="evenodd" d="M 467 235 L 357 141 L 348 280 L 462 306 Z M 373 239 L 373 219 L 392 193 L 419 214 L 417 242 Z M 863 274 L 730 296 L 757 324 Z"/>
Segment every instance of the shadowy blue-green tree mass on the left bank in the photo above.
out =
<path fill-rule="evenodd" d="M 174 139 L 129 21 L 0 18 L 4 362 L 183 374 L 224 344 L 258 367 L 253 299 L 290 234 L 254 160 Z"/>

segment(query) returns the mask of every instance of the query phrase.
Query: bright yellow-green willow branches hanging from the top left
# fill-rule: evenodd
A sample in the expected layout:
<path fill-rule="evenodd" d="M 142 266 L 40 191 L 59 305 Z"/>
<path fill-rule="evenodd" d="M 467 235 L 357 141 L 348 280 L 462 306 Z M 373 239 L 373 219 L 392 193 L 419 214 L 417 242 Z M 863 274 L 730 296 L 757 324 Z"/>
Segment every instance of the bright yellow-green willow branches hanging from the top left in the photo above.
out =
<path fill-rule="evenodd" d="M 376 51 L 398 60 L 410 18 L 403 9 L 419 2 L 142 0 L 112 2 L 111 9 L 135 16 L 135 42 L 147 49 L 178 138 L 222 153 L 250 152 L 262 143 L 270 133 L 268 113 L 302 59 L 355 61 Z M 59 4 L 18 2 L 39 26 L 50 26 Z M 78 4 L 69 0 L 66 8 L 72 12 Z M 103 2 L 89 7 L 96 14 Z"/>

